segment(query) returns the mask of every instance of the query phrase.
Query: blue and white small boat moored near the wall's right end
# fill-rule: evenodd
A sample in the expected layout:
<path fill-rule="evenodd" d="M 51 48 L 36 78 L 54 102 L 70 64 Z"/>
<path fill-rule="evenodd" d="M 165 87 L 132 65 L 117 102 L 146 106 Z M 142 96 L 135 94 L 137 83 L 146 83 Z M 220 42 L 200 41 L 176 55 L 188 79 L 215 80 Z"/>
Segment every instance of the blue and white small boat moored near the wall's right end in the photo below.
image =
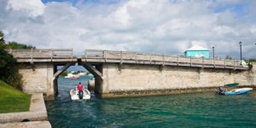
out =
<path fill-rule="evenodd" d="M 224 90 L 223 88 L 218 87 L 218 94 L 225 95 L 225 96 L 241 95 L 241 94 L 247 94 L 251 90 L 253 90 L 253 88 L 238 88 L 233 90 Z"/>

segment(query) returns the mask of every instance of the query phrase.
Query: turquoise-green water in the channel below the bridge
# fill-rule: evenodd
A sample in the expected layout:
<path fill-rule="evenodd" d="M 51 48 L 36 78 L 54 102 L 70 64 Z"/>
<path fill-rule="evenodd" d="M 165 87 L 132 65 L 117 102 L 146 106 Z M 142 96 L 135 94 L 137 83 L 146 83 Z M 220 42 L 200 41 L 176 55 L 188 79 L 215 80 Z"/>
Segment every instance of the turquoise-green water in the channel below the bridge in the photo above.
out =
<path fill-rule="evenodd" d="M 71 101 L 69 90 L 82 79 L 59 80 L 59 95 L 46 102 L 55 127 L 256 127 L 256 92 L 218 96 L 213 92 L 172 96 Z"/>

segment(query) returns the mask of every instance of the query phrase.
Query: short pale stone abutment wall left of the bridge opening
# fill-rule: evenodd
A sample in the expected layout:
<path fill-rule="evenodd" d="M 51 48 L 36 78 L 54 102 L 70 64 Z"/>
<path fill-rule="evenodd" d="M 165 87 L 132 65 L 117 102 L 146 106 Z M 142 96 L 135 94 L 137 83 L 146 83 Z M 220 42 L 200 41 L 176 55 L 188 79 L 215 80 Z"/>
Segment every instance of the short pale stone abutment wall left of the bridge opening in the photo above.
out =
<path fill-rule="evenodd" d="M 21 63 L 19 73 L 22 75 L 22 90 L 27 93 L 44 93 L 45 97 L 54 99 L 56 81 L 53 80 L 54 63 Z"/>

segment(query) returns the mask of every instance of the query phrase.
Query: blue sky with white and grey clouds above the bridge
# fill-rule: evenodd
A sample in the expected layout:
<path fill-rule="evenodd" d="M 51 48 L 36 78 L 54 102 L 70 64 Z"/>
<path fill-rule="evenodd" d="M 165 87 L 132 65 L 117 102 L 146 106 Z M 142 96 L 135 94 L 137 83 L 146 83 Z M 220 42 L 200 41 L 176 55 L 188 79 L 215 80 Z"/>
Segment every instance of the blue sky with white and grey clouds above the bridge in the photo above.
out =
<path fill-rule="evenodd" d="M 6 41 L 38 49 L 125 50 L 256 58 L 255 0 L 0 0 Z"/>

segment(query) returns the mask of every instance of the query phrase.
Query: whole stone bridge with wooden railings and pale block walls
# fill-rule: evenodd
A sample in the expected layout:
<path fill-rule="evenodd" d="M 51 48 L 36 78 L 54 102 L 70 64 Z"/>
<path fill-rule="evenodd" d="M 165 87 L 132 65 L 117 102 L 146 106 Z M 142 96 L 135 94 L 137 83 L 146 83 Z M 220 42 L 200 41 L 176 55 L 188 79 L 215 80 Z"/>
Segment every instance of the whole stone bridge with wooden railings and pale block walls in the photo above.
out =
<path fill-rule="evenodd" d="M 255 68 L 249 70 L 237 60 L 205 59 L 183 55 L 86 49 L 7 49 L 20 64 L 25 92 L 43 92 L 54 99 L 57 78 L 78 63 L 96 78 L 101 97 L 166 95 L 212 89 L 228 83 L 255 85 Z M 57 66 L 63 66 L 57 70 Z"/>

